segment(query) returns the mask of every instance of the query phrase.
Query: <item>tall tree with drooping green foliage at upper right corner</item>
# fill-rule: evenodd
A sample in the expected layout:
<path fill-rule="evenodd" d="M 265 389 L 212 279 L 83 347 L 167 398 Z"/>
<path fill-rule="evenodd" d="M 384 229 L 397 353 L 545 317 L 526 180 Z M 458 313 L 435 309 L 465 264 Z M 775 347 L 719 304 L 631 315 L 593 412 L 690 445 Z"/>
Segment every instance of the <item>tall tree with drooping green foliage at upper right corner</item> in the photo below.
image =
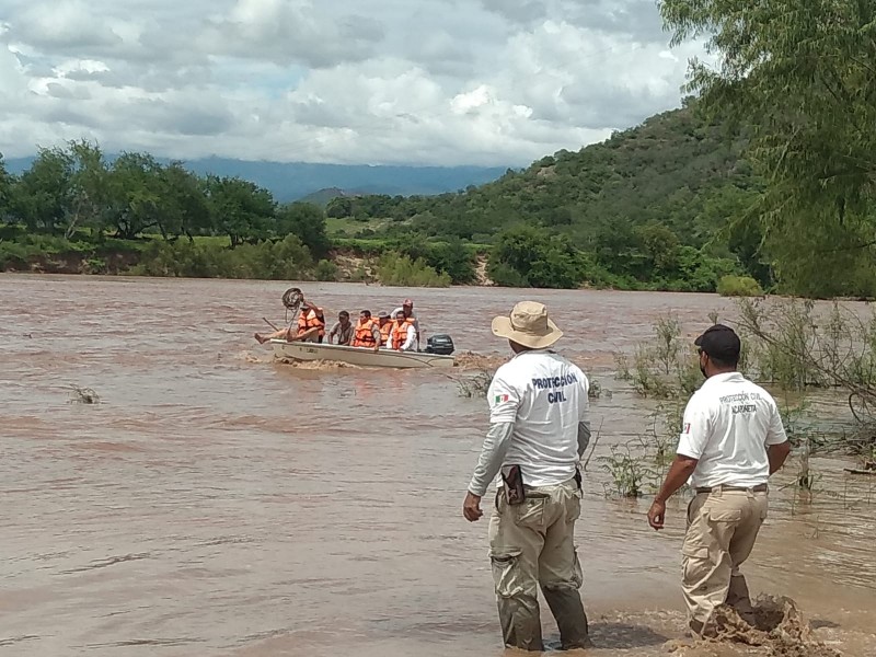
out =
<path fill-rule="evenodd" d="M 710 36 L 718 66 L 694 60 L 689 89 L 707 116 L 750 136 L 773 241 L 795 242 L 814 222 L 876 221 L 873 2 L 662 0 L 660 12 L 673 45 Z"/>

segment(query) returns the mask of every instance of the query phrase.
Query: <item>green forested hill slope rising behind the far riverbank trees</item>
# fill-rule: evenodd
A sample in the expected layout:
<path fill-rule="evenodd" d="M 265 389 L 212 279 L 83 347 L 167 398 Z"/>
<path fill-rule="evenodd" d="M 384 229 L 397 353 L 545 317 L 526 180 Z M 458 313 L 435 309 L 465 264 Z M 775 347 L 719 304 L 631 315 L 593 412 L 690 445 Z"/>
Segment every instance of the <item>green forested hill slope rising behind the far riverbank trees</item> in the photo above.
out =
<path fill-rule="evenodd" d="M 430 234 L 475 241 L 514 223 L 539 223 L 581 245 L 607 230 L 655 222 L 699 244 L 726 218 L 716 206 L 756 185 L 740 150 L 740 140 L 728 141 L 684 107 L 461 194 L 337 198 L 328 212 L 413 220 Z"/>

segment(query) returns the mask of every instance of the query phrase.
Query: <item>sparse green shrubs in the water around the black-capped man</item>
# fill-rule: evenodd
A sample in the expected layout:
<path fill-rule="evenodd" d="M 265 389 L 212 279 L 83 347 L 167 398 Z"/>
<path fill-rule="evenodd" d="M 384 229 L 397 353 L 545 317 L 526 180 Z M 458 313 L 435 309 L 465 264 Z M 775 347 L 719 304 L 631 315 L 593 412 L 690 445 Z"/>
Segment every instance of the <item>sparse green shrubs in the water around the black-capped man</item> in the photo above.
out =
<path fill-rule="evenodd" d="M 738 316 L 724 320 L 742 337 L 740 371 L 776 396 L 795 448 L 794 485 L 810 495 L 820 480 L 812 456 L 851 456 L 862 472 L 876 474 L 876 315 L 866 312 L 862 319 L 839 302 L 826 309 L 805 299 L 745 299 Z M 652 339 L 637 346 L 632 361 L 615 356 L 615 376 L 639 396 L 657 400 L 648 430 L 598 459 L 611 476 L 612 494 L 637 497 L 656 492 L 662 481 L 684 404 L 702 374 L 680 323 L 667 315 L 655 322 Z M 812 395 L 832 408 L 829 418 L 814 415 Z M 851 422 L 841 422 L 846 406 Z"/>

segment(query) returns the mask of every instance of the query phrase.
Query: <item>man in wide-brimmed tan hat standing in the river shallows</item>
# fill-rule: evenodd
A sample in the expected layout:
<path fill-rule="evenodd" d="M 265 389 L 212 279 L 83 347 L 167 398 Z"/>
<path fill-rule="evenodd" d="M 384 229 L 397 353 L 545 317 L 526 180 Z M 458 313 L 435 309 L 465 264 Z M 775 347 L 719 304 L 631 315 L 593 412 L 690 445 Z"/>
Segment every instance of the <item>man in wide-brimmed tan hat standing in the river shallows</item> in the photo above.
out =
<path fill-rule="evenodd" d="M 481 518 L 481 498 L 495 479 L 489 557 L 505 645 L 543 649 L 541 587 L 563 648 L 588 647 L 574 537 L 578 463 L 590 440 L 589 383 L 577 366 L 548 350 L 563 333 L 543 304 L 518 303 L 509 316 L 493 320 L 493 333 L 508 338 L 515 356 L 489 385 L 489 431 L 463 515 Z"/>

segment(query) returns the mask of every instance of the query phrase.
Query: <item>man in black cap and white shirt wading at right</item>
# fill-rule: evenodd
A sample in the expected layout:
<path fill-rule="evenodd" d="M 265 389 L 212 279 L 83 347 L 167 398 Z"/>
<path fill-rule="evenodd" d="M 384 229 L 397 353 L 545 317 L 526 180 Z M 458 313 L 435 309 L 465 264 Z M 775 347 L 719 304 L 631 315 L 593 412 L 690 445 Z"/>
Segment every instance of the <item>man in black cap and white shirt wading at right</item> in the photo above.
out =
<path fill-rule="evenodd" d="M 791 446 L 770 394 L 737 371 L 739 337 L 715 324 L 694 343 L 705 383 L 684 410 L 677 457 L 648 511 L 662 529 L 666 500 L 685 482 L 688 507 L 681 548 L 681 587 L 694 634 L 708 634 L 713 610 L 727 603 L 751 620 L 751 600 L 739 566 L 751 554 L 766 518 L 766 482 Z"/>

